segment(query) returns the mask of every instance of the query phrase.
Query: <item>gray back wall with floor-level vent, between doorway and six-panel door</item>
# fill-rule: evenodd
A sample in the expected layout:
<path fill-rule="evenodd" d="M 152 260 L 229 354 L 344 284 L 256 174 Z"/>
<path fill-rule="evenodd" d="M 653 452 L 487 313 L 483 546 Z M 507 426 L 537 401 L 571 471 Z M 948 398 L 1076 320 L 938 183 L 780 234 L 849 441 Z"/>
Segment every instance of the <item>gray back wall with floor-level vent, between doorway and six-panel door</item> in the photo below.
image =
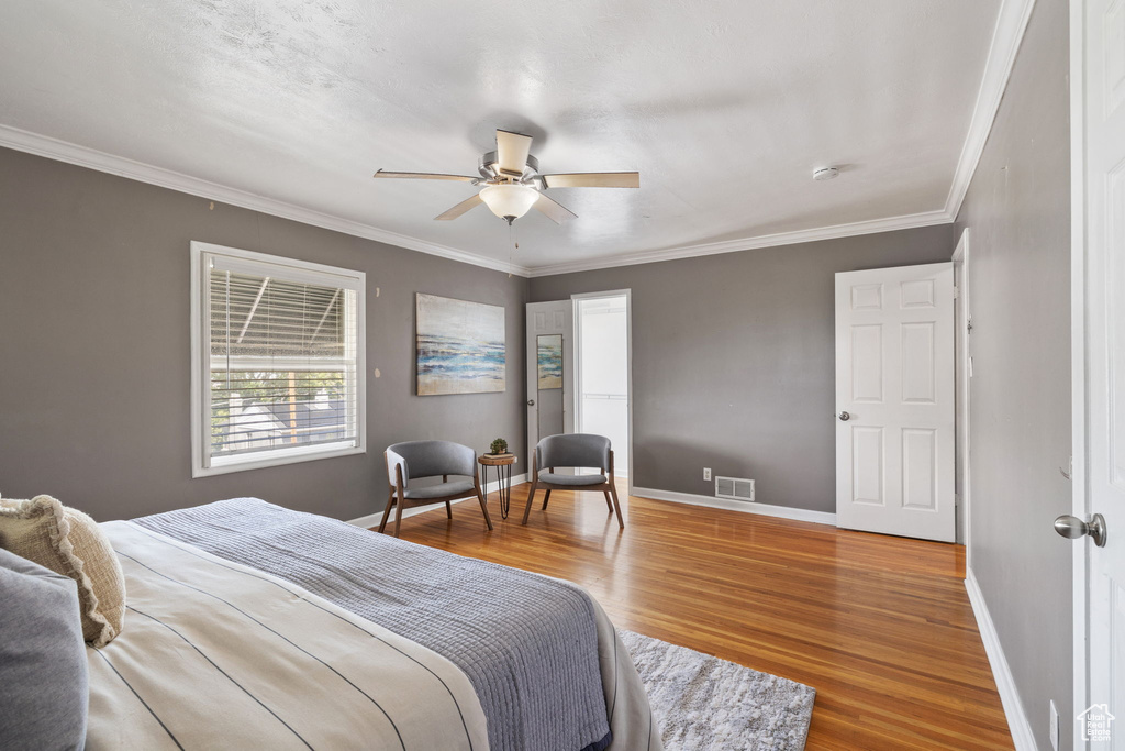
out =
<path fill-rule="evenodd" d="M 835 274 L 950 260 L 950 225 L 565 274 L 531 302 L 632 289 L 634 485 L 836 509 Z"/>

